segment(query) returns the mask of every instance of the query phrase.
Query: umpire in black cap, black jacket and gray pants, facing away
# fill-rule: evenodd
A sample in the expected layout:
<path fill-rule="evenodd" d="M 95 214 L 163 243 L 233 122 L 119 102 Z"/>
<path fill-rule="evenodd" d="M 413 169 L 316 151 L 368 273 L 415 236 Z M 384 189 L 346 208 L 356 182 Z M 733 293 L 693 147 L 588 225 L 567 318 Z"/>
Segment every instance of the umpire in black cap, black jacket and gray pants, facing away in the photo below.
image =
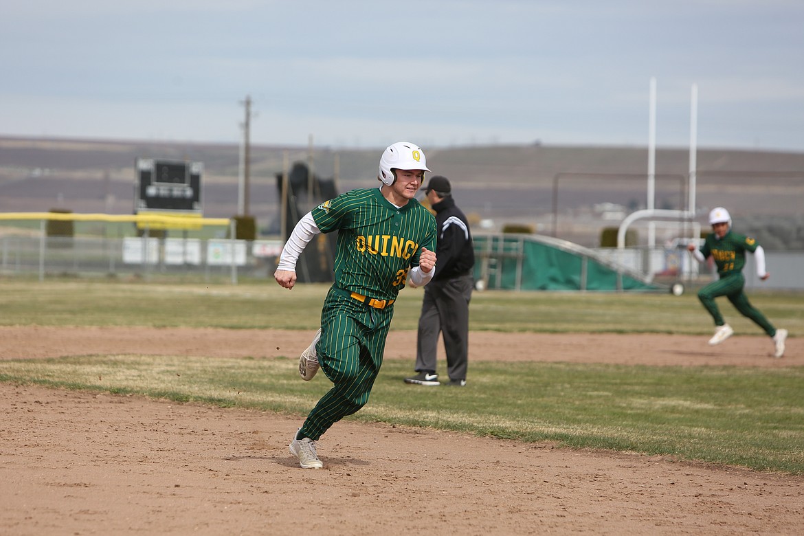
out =
<path fill-rule="evenodd" d="M 425 186 L 436 211 L 438 243 L 436 273 L 425 287 L 416 343 L 416 374 L 405 378 L 415 385 L 440 385 L 436 374 L 438 336 L 444 338 L 449 383 L 466 385 L 469 346 L 469 301 L 474 287 L 474 248 L 466 215 L 455 206 L 452 187 L 441 175 Z"/>

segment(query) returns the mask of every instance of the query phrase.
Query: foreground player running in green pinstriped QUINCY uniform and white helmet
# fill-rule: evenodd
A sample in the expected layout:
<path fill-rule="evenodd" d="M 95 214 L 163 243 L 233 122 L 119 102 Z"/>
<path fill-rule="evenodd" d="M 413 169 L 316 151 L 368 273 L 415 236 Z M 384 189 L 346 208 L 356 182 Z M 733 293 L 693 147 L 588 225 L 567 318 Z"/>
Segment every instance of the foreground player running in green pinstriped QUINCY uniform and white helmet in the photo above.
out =
<path fill-rule="evenodd" d="M 323 466 L 316 441 L 367 403 L 383 362 L 393 302 L 408 274 L 417 286 L 433 277 L 436 220 L 414 198 L 425 171 L 419 147 L 406 141 L 389 146 L 379 161 L 379 189 L 352 190 L 314 208 L 282 250 L 274 278 L 293 288 L 296 261 L 310 239 L 319 231 L 338 231 L 334 284 L 324 300 L 321 329 L 299 358 L 302 378 L 313 378 L 320 366 L 334 384 L 290 443 L 303 468 Z"/>

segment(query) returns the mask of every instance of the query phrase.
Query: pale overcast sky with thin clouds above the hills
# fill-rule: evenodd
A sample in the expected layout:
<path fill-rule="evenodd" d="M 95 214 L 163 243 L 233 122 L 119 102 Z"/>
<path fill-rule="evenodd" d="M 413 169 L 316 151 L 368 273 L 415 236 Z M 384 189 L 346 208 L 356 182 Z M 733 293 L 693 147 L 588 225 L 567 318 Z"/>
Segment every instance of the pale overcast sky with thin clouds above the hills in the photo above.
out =
<path fill-rule="evenodd" d="M 802 0 L 0 0 L 0 134 L 804 152 Z"/>

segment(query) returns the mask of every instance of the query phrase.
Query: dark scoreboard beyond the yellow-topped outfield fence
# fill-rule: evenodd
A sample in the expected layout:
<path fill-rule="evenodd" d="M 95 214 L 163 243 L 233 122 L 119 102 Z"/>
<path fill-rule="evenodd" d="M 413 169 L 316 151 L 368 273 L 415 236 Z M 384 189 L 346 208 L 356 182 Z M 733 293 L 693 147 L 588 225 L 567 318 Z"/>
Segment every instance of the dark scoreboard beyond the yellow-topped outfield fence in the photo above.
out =
<path fill-rule="evenodd" d="M 137 158 L 134 213 L 147 211 L 201 215 L 202 162 Z"/>

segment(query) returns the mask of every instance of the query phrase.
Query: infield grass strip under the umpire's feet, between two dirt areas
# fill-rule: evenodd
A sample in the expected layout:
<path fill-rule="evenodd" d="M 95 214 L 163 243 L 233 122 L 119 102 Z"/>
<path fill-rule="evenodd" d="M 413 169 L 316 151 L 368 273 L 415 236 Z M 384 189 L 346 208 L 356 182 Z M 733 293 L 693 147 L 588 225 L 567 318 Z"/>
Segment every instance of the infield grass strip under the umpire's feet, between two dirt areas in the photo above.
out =
<path fill-rule="evenodd" d="M 0 381 L 303 415 L 330 387 L 295 359 L 82 356 L 0 362 Z M 474 362 L 464 388 L 411 387 L 384 364 L 351 419 L 804 474 L 804 368 Z"/>

